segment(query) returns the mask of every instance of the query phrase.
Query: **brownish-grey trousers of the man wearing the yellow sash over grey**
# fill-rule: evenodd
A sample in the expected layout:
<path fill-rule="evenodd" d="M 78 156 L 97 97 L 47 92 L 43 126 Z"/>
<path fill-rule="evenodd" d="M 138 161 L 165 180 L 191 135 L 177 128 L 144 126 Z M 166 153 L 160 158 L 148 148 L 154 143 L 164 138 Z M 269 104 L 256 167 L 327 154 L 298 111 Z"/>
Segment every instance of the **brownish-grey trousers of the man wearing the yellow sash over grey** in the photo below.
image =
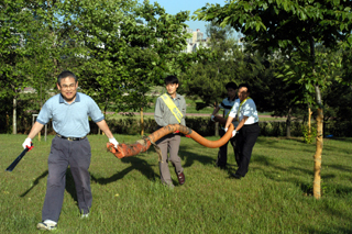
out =
<path fill-rule="evenodd" d="M 168 134 L 156 142 L 156 145 L 162 151 L 162 161 L 160 161 L 160 171 L 161 171 L 161 180 L 163 183 L 167 183 L 167 185 L 173 183 L 172 176 L 168 169 L 168 161 L 172 161 L 173 166 L 175 167 L 175 171 L 177 174 L 184 171 L 180 165 L 180 158 L 178 156 L 179 143 L 180 143 L 179 134 Z M 169 157 L 167 156 L 167 151 L 169 152 Z"/>

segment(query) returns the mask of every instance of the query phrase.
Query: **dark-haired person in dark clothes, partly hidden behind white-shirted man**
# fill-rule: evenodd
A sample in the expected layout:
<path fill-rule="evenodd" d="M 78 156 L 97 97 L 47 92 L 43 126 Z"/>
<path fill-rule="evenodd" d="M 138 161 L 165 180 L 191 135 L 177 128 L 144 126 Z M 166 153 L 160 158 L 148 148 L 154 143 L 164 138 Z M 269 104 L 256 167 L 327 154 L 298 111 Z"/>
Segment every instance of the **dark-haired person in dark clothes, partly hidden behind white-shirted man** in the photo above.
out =
<path fill-rule="evenodd" d="M 229 116 L 230 110 L 233 107 L 234 101 L 235 101 L 237 88 L 238 88 L 238 86 L 234 82 L 228 82 L 226 85 L 226 89 L 228 90 L 228 98 L 223 99 L 222 102 L 219 104 L 219 107 L 217 107 L 213 110 L 213 112 L 211 114 L 211 121 L 215 122 L 215 115 L 219 112 L 219 110 L 224 110 L 224 112 L 223 112 L 224 116 L 226 118 Z M 238 124 L 239 124 L 238 119 L 233 119 L 232 124 L 233 124 L 234 127 L 237 127 Z M 224 135 L 224 133 L 226 133 L 224 129 L 221 127 L 220 129 L 220 137 L 222 137 Z M 239 153 L 238 153 L 238 149 L 235 147 L 235 136 L 230 138 L 229 142 L 232 145 L 234 157 L 235 157 L 235 160 L 238 161 L 239 160 Z M 223 146 L 221 146 L 219 148 L 219 152 L 218 152 L 218 159 L 217 159 L 216 166 L 221 168 L 221 169 L 226 169 L 227 168 L 227 164 L 228 164 L 228 144 L 229 144 L 229 142 L 227 142 Z"/>

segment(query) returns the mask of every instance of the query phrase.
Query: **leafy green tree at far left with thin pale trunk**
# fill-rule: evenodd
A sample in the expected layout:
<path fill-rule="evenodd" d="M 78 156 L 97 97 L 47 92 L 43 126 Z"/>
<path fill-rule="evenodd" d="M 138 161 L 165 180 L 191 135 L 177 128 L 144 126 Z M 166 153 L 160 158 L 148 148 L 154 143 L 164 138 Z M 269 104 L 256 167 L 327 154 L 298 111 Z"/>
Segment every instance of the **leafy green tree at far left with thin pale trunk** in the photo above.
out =
<path fill-rule="evenodd" d="M 72 46 L 73 25 L 61 20 L 67 15 L 65 1 L 2 1 L 0 3 L 1 65 L 0 79 L 3 96 L 13 97 L 13 133 L 16 133 L 16 109 L 20 92 L 32 87 L 37 92 L 35 103 L 42 107 L 53 82 L 63 68 L 75 65 L 70 54 L 77 54 Z M 64 13 L 63 13 L 64 12 Z M 35 96 L 34 96 L 35 97 Z M 33 108 L 33 109 L 38 109 Z"/>

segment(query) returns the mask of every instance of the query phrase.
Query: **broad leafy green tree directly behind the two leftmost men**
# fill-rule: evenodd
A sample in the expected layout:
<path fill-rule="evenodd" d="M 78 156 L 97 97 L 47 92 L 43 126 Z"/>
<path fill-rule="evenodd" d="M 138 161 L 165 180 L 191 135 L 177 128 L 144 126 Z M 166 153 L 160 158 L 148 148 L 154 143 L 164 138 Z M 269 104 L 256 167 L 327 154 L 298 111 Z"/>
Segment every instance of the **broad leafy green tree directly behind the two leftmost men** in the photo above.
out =
<path fill-rule="evenodd" d="M 81 88 L 107 110 L 135 111 L 151 102 L 151 87 L 165 74 L 178 74 L 188 64 L 180 52 L 186 46 L 188 12 L 168 14 L 158 4 L 144 1 L 76 1 L 75 38 L 81 52 Z"/>

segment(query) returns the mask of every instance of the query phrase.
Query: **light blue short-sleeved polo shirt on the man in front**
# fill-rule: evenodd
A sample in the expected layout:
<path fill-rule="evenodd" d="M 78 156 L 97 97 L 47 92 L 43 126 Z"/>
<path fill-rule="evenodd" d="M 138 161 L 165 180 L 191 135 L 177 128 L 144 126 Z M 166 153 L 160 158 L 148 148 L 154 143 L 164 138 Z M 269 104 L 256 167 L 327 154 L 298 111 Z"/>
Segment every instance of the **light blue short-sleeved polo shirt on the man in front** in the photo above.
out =
<path fill-rule="evenodd" d="M 105 119 L 98 104 L 89 96 L 77 92 L 75 101 L 69 104 L 58 93 L 44 103 L 36 121 L 46 124 L 52 119 L 53 129 L 57 134 L 82 137 L 90 132 L 88 116 L 94 122 Z"/>

